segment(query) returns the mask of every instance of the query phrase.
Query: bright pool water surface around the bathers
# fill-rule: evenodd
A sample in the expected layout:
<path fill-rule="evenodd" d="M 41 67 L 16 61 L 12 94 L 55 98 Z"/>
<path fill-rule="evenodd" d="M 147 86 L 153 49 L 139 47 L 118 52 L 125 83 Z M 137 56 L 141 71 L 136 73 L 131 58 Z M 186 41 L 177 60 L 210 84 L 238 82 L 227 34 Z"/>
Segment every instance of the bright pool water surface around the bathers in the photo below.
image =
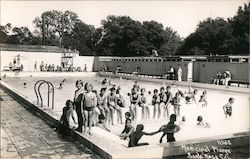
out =
<path fill-rule="evenodd" d="M 32 73 L 31 73 L 32 74 Z M 75 82 L 78 79 L 83 80 L 84 82 L 91 82 L 94 85 L 95 90 L 100 90 L 102 85 L 99 83 L 104 79 L 104 77 L 100 77 L 98 75 L 88 75 L 82 74 L 79 75 L 72 75 L 72 76 L 64 76 L 61 74 L 60 76 L 54 76 L 53 73 L 49 74 L 46 77 L 37 77 L 36 76 L 14 76 L 8 77 L 4 79 L 4 81 L 16 88 L 19 93 L 25 95 L 30 101 L 36 104 L 36 95 L 34 93 L 34 84 L 36 81 L 44 79 L 50 81 L 54 84 L 54 86 L 58 86 L 60 81 L 66 79 L 66 83 L 63 85 L 62 89 L 55 89 L 55 109 L 54 111 L 57 113 L 61 113 L 62 107 L 65 105 L 65 101 L 68 99 L 73 99 L 74 91 L 75 91 Z M 126 100 L 129 100 L 129 97 L 126 96 L 128 92 L 130 92 L 132 85 L 134 84 L 133 80 L 125 80 L 125 79 L 111 79 L 112 83 L 116 84 L 117 86 L 120 85 L 123 90 L 123 94 Z M 23 83 L 26 82 L 26 88 L 23 87 Z M 163 83 L 156 83 L 156 82 L 142 82 L 139 81 L 141 87 L 145 87 L 147 91 L 153 91 L 154 88 L 159 89 L 163 86 Z M 181 89 L 187 89 L 184 87 L 180 87 Z M 42 93 L 44 98 L 44 103 L 46 104 L 46 91 L 47 87 L 42 86 Z M 203 89 L 198 89 L 198 94 L 201 95 Z M 182 130 L 178 132 L 175 136 L 177 140 L 186 140 L 186 139 L 196 139 L 196 138 L 203 138 L 203 137 L 210 137 L 215 135 L 224 135 L 224 134 L 231 134 L 237 133 L 242 131 L 249 130 L 249 99 L 248 94 L 243 93 L 232 93 L 232 92 L 223 92 L 217 90 L 207 90 L 208 95 L 208 106 L 201 107 L 201 105 L 189 104 L 186 105 L 184 101 L 182 101 L 181 106 L 181 116 L 186 116 L 187 122 L 182 127 Z M 234 97 L 235 102 L 233 104 L 233 116 L 231 119 L 225 119 L 224 112 L 222 106 L 228 102 L 229 97 Z M 129 102 L 127 102 L 127 106 Z M 123 110 L 123 113 L 127 111 L 128 108 Z M 173 111 L 173 110 L 172 110 Z M 202 115 L 204 120 L 206 120 L 210 125 L 211 128 L 197 128 L 196 127 L 196 119 L 198 115 Z M 151 118 L 152 118 L 152 107 L 151 107 Z M 114 118 L 116 121 L 116 118 Z M 138 117 L 140 119 L 140 116 Z M 179 119 L 178 119 L 179 120 Z M 146 132 L 152 132 L 158 130 L 159 127 L 163 124 L 166 124 L 168 121 L 167 119 L 151 119 L 148 121 L 138 121 L 137 123 L 133 123 L 134 126 L 138 123 L 144 124 L 144 130 Z M 178 123 L 178 122 L 177 122 Z M 98 129 L 94 132 L 98 135 L 101 135 L 106 138 L 110 138 L 110 140 L 119 142 L 119 138 L 117 135 L 122 131 L 124 125 L 115 124 L 114 126 L 110 126 L 110 129 L 113 134 L 103 133 Z M 141 142 L 149 142 L 149 143 L 158 143 L 159 138 L 162 134 L 156 134 L 154 136 L 145 136 L 141 139 Z M 114 137 L 116 136 L 116 137 Z M 164 140 L 165 142 L 165 140 Z"/>

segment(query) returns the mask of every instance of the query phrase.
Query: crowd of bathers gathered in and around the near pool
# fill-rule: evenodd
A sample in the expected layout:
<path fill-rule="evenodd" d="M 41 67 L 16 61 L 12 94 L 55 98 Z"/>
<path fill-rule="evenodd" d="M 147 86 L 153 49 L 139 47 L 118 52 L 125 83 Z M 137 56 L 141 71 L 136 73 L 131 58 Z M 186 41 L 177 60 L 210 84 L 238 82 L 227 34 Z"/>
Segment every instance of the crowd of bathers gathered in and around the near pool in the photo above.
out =
<path fill-rule="evenodd" d="M 62 83 L 64 83 L 63 81 Z M 67 100 L 63 108 L 63 114 L 60 119 L 61 125 L 69 127 L 70 118 L 78 125 L 76 131 L 81 133 L 92 134 L 92 126 L 100 127 L 108 132 L 109 125 L 114 124 L 114 114 L 117 116 L 117 123 L 123 124 L 123 109 L 125 107 L 124 95 L 121 93 L 120 86 L 115 86 L 108 79 L 104 79 L 100 84 L 103 86 L 100 91 L 93 89 L 91 83 L 83 83 L 81 80 L 76 81 L 76 91 L 73 101 Z M 108 89 L 107 85 L 111 85 Z M 161 143 L 164 136 L 167 136 L 167 142 L 175 141 L 174 134 L 181 130 L 182 123 L 185 123 L 186 117 L 181 117 L 181 103 L 182 98 L 186 104 L 201 103 L 202 107 L 207 107 L 207 92 L 203 91 L 202 95 L 198 97 L 197 89 L 188 87 L 187 91 L 181 91 L 177 88 L 177 92 L 171 90 L 175 85 L 161 87 L 160 90 L 154 89 L 153 93 L 150 91 L 146 93 L 145 88 L 141 88 L 138 81 L 135 81 L 131 91 L 127 94 L 130 98 L 129 111 L 125 113 L 125 127 L 120 134 L 123 140 L 128 139 L 128 147 L 147 145 L 148 143 L 140 143 L 139 140 L 143 135 L 154 135 L 162 132 L 159 140 Z M 109 90 L 109 92 L 107 92 Z M 234 99 L 230 98 L 228 103 L 223 106 L 225 117 L 232 116 L 232 104 Z M 136 128 L 132 126 L 133 122 L 138 121 L 138 109 L 141 107 L 141 120 L 151 119 L 149 107 L 153 107 L 153 117 L 158 119 L 163 114 L 164 120 L 169 120 L 166 125 L 161 126 L 154 132 L 143 131 L 144 125 L 138 124 Z M 174 108 L 174 113 L 170 115 L 170 107 Z M 77 121 L 74 118 L 73 112 L 77 114 Z M 177 118 L 182 118 L 179 124 L 176 124 Z M 197 126 L 202 128 L 211 127 L 202 116 L 197 117 Z M 62 130 L 61 128 L 59 128 Z"/>

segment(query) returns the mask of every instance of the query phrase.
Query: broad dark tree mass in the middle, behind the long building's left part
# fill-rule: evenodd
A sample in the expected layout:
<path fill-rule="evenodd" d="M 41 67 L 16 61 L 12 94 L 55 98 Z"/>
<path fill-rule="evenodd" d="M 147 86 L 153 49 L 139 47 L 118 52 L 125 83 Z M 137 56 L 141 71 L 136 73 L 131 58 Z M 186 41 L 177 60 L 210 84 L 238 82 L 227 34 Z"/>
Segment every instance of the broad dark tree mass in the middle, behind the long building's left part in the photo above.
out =
<path fill-rule="evenodd" d="M 177 33 L 170 28 L 165 31 L 162 24 L 155 21 L 141 24 L 127 16 L 108 16 L 102 21 L 102 29 L 105 35 L 98 46 L 98 54 L 149 56 L 152 50 L 159 50 L 160 55 L 165 55 L 170 51 L 174 54 L 180 46 L 171 46 L 180 42 Z"/>

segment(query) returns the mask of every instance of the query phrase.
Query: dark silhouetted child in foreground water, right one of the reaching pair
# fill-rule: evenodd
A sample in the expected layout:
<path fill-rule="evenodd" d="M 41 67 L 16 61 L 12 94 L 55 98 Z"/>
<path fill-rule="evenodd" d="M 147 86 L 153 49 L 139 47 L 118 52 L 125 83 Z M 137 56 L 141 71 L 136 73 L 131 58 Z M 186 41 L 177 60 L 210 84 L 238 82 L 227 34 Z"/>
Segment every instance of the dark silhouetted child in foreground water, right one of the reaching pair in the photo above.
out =
<path fill-rule="evenodd" d="M 167 135 L 167 142 L 175 141 L 174 134 L 181 130 L 180 126 L 175 124 L 175 122 L 176 122 L 176 115 L 171 114 L 169 123 L 167 125 L 161 126 L 159 131 L 162 131 L 163 135 L 160 138 L 160 143 L 162 143 L 162 139 L 165 135 Z"/>

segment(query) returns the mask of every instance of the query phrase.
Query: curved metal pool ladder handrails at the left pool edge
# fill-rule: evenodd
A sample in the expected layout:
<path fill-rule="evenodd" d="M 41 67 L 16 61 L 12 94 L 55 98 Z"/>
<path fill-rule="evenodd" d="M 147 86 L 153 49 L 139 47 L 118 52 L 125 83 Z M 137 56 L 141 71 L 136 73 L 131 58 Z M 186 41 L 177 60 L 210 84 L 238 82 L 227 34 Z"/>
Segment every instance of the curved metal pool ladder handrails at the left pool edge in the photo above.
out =
<path fill-rule="evenodd" d="M 52 109 L 54 109 L 54 96 L 55 96 L 55 89 L 54 89 L 54 85 L 49 82 L 49 81 L 45 81 L 45 80 L 39 80 L 35 83 L 34 85 L 34 90 L 35 90 L 35 93 L 36 93 L 36 98 L 37 98 L 37 105 L 39 105 L 39 101 L 41 100 L 41 107 L 43 107 L 43 98 L 42 98 L 42 95 L 41 95 L 41 92 L 40 92 L 40 88 L 43 84 L 47 84 L 48 86 L 48 107 L 49 107 L 49 104 L 50 104 L 50 93 L 52 94 Z M 38 85 L 38 87 L 37 87 Z"/>

